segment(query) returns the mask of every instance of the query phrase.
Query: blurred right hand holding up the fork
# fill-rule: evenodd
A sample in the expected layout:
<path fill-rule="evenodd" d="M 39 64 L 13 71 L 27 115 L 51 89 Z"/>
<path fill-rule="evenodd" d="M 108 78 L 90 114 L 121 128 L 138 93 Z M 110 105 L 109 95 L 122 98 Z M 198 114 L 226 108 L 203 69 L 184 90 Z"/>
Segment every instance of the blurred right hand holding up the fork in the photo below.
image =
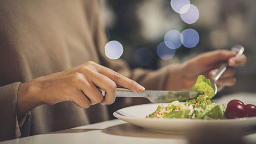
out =
<path fill-rule="evenodd" d="M 217 50 L 191 58 L 181 65 L 170 68 L 170 76 L 166 88 L 169 90 L 188 90 L 195 84 L 198 75 L 202 74 L 211 79 L 221 64 L 225 62 L 229 67 L 216 84 L 218 90 L 222 90 L 225 86 L 233 86 L 236 83 L 233 67 L 246 64 L 245 55 L 241 55 L 238 58 L 235 56 L 236 52 Z"/>

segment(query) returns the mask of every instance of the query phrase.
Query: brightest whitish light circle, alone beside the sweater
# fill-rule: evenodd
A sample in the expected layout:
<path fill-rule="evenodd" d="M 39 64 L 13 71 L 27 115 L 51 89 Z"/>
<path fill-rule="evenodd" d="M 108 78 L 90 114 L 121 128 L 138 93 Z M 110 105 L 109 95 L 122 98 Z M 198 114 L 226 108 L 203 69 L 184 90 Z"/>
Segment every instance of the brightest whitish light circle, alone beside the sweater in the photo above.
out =
<path fill-rule="evenodd" d="M 118 41 L 110 41 L 105 45 L 105 55 L 109 59 L 118 59 L 123 52 L 123 46 Z"/>

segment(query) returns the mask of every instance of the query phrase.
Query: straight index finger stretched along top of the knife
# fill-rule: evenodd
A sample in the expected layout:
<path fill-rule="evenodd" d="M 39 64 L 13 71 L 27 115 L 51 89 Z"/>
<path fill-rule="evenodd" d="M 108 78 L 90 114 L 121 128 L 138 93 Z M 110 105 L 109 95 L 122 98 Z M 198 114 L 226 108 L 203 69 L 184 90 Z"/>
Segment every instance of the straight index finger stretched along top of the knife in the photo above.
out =
<path fill-rule="evenodd" d="M 127 78 L 109 68 L 98 65 L 97 71 L 99 73 L 109 77 L 117 85 L 128 88 L 134 92 L 143 92 L 145 90 L 145 88 L 143 86 L 141 86 L 140 84 L 138 84 L 137 82 L 135 82 L 135 81 L 131 80 L 130 78 Z"/>

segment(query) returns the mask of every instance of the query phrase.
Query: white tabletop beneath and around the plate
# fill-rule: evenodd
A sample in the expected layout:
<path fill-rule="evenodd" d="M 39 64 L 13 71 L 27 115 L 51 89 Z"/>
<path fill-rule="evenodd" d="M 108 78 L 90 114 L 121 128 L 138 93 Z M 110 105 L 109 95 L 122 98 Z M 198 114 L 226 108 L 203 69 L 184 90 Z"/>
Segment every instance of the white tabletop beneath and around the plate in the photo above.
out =
<path fill-rule="evenodd" d="M 241 95 L 243 97 L 241 97 Z M 240 99 L 245 103 L 256 102 L 255 94 L 239 93 L 222 97 L 216 102 L 227 103 L 230 99 Z M 256 134 L 247 135 L 243 138 L 248 143 L 256 143 Z M 62 130 L 53 133 L 28 136 L 10 141 L 0 142 L 0 144 L 187 144 L 185 135 L 164 134 L 146 131 L 140 127 L 128 124 L 115 119 L 97 124 L 81 126 L 73 129 Z"/>

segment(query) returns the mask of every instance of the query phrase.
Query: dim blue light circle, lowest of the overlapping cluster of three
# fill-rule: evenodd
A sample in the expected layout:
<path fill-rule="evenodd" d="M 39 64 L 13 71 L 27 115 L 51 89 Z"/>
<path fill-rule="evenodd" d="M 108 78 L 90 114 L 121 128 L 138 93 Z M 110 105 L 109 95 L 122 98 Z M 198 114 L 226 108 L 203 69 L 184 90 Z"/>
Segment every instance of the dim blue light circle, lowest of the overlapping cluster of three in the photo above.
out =
<path fill-rule="evenodd" d="M 171 43 L 171 42 L 170 42 Z M 169 44 L 170 44 L 169 43 Z M 174 46 L 174 45 L 173 45 Z M 175 49 L 171 49 L 169 47 L 166 46 L 165 42 L 161 42 L 158 46 L 157 46 L 157 55 L 163 59 L 163 60 L 168 60 L 171 59 L 174 55 L 175 55 Z"/>

